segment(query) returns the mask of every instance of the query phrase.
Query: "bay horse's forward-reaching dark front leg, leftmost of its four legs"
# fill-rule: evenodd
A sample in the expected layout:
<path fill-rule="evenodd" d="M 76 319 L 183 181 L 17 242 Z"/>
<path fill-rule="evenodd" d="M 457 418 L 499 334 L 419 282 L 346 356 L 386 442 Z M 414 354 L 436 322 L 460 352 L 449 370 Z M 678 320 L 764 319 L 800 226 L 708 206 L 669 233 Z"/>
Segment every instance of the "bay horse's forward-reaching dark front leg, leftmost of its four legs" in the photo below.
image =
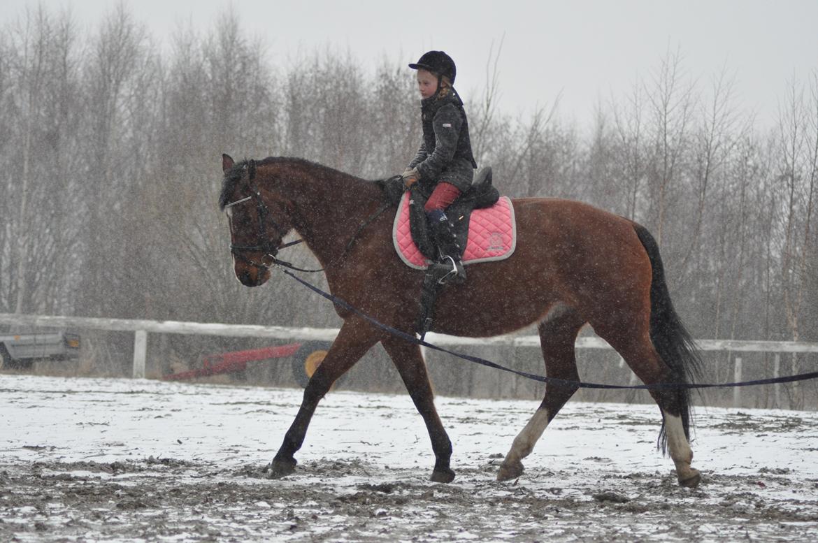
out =
<path fill-rule="evenodd" d="M 312 419 L 318 402 L 330 390 L 335 379 L 354 366 L 366 351 L 378 343 L 378 339 L 380 338 L 366 322 L 356 317 L 350 317 L 344 321 L 332 347 L 321 361 L 321 366 L 318 366 L 312 378 L 309 379 L 307 387 L 304 388 L 298 415 L 295 415 L 295 420 L 287 430 L 281 448 L 272 459 L 271 477 L 279 478 L 293 473 L 295 464 L 297 464 L 294 458 L 295 451 L 298 451 L 303 444 L 309 421 Z"/>

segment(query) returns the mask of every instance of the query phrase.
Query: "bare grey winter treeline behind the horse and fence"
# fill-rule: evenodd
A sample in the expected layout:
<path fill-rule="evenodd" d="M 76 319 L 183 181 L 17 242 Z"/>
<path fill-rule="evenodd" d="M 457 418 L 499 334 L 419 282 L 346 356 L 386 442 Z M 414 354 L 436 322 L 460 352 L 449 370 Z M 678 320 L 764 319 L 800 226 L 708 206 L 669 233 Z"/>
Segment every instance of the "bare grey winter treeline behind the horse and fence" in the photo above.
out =
<path fill-rule="evenodd" d="M 122 4 L 91 31 L 43 7 L 12 19 L 0 34 L 0 312 L 337 325 L 283 280 L 245 289 L 232 276 L 220 155 L 400 173 L 420 141 L 405 63 L 274 63 L 232 12 L 205 34 L 179 29 L 167 50 Z M 497 110 L 497 75 L 466 108 L 502 192 L 645 224 L 696 337 L 818 340 L 818 74 L 781 82 L 778 121 L 759 129 L 728 72 L 694 81 L 671 51 L 598 105 L 589 130 L 560 119 L 558 101 L 526 119 Z"/>

